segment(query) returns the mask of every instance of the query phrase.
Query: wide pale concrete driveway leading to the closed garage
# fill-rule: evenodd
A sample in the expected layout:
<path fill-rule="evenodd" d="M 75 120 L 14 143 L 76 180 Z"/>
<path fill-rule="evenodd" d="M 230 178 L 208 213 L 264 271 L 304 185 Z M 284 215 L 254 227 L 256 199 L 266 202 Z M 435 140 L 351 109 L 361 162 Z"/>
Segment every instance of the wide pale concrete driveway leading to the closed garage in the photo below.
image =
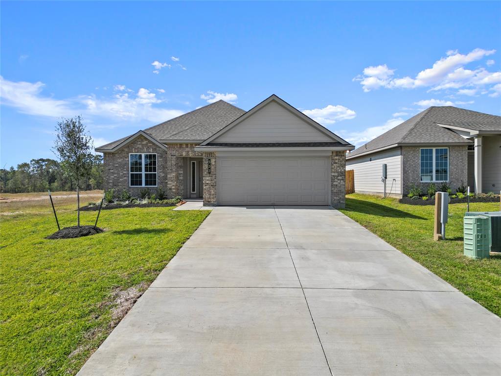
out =
<path fill-rule="evenodd" d="M 218 207 L 79 375 L 499 375 L 501 319 L 330 208 Z"/>

